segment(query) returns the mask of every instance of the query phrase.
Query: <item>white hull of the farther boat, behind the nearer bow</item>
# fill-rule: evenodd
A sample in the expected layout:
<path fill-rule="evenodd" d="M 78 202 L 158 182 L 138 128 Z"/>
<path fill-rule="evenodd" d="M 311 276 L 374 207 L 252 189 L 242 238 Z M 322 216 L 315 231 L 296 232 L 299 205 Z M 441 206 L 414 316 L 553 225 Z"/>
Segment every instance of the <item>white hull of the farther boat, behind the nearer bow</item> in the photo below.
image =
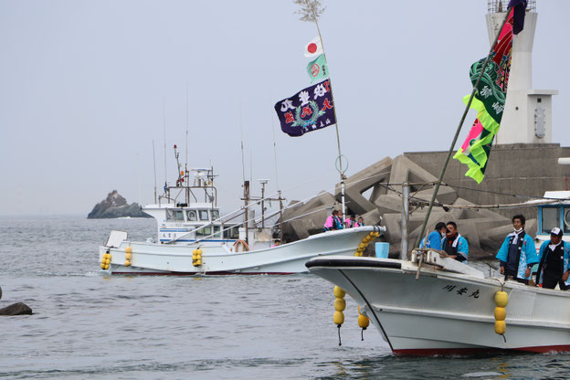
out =
<path fill-rule="evenodd" d="M 316 256 L 354 255 L 355 249 L 378 227 L 329 231 L 274 248 L 231 251 L 231 244 L 195 243 L 166 245 L 122 241 L 117 248 L 100 247 L 100 260 L 111 253 L 112 274 L 222 275 L 292 274 L 307 272 L 305 263 Z M 382 232 L 382 230 L 380 230 Z M 125 249 L 132 250 L 131 265 L 125 265 Z M 202 265 L 193 265 L 193 251 L 202 250 Z"/>

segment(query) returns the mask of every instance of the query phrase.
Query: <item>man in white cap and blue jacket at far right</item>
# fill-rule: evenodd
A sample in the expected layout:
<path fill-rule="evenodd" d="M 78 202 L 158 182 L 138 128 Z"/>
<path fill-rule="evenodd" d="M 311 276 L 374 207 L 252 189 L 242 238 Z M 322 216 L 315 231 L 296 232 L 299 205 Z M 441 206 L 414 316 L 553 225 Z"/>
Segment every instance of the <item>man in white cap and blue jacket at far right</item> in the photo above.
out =
<path fill-rule="evenodd" d="M 544 241 L 538 251 L 540 264 L 536 273 L 536 284 L 546 289 L 567 290 L 570 264 L 570 243 L 562 240 L 562 230 L 554 227 L 550 231 L 550 241 Z"/>

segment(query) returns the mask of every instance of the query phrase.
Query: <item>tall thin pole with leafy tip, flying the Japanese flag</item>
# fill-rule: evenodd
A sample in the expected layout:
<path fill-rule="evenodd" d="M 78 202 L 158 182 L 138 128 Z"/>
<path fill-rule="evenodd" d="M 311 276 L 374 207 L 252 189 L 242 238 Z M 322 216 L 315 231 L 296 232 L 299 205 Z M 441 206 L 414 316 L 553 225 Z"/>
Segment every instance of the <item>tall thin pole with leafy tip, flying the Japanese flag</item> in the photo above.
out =
<path fill-rule="evenodd" d="M 321 35 L 321 28 L 319 27 L 319 17 L 325 10 L 325 7 L 321 5 L 320 0 L 293 0 L 294 4 L 301 5 L 301 9 L 295 12 L 296 14 L 301 15 L 301 21 L 306 22 L 313 22 L 315 26 L 317 26 L 317 32 L 319 33 L 319 39 L 321 40 L 321 47 L 322 47 L 322 56 L 324 60 L 327 61 L 326 53 L 324 50 L 324 44 L 322 43 L 322 35 Z M 332 94 L 332 80 L 331 76 L 329 75 L 329 88 L 331 90 L 331 99 L 332 99 L 332 112 L 334 114 L 334 128 L 336 129 L 336 144 L 338 147 L 338 156 L 336 158 L 336 165 L 339 174 L 341 175 L 341 200 L 343 204 L 343 215 L 346 214 L 346 207 L 344 203 L 344 180 L 346 179 L 346 169 L 348 169 L 348 162 L 346 165 L 343 165 L 343 160 L 346 160 L 346 157 L 343 156 L 341 153 L 341 138 L 338 132 L 338 118 L 336 116 L 336 103 L 334 102 L 334 96 Z"/>

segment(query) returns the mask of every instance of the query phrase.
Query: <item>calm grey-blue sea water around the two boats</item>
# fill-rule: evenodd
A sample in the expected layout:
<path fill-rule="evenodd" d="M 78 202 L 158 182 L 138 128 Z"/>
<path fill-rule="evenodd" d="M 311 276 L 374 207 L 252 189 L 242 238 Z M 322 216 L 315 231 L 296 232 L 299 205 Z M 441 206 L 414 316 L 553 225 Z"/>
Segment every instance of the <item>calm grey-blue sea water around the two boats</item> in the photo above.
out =
<path fill-rule="evenodd" d="M 2 379 L 570 378 L 570 355 L 397 358 L 361 331 L 347 298 L 343 345 L 332 285 L 312 275 L 108 277 L 98 247 L 149 219 L 0 218 Z"/>

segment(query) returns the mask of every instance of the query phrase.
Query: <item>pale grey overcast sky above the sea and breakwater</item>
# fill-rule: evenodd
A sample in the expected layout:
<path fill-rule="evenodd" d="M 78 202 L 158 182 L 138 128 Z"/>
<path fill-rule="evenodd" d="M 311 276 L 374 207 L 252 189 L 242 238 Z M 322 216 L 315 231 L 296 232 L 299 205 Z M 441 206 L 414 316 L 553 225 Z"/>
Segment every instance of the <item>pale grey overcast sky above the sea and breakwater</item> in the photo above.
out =
<path fill-rule="evenodd" d="M 347 174 L 388 155 L 447 150 L 470 64 L 489 50 L 487 1 L 324 3 Z M 309 181 L 286 196 L 330 190 L 334 128 L 291 138 L 273 111 L 310 84 L 302 51 L 317 31 L 296 9 L 289 0 L 0 0 L 0 215 L 86 215 L 113 189 L 151 203 L 153 140 L 164 184 L 163 99 L 174 181 L 187 86 L 189 164 L 214 165 L 224 209 L 240 204 L 240 108 L 247 177 L 276 189 L 275 133 L 280 188 Z M 554 142 L 568 146 L 570 2 L 537 0 L 537 11 L 533 88 L 560 90 Z"/>

